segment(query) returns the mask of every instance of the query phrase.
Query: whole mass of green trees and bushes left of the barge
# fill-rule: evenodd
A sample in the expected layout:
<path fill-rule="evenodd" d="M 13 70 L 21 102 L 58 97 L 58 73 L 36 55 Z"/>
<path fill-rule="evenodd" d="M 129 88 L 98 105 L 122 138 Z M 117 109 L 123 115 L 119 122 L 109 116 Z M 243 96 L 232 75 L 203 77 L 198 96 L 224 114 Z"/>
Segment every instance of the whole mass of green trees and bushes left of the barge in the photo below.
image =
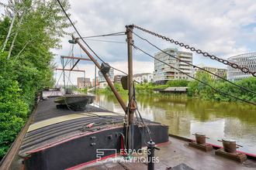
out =
<path fill-rule="evenodd" d="M 36 88 L 54 85 L 54 53 L 69 24 L 55 0 L 17 1 L 0 19 L 0 159 L 19 134 L 36 101 Z M 67 0 L 61 1 L 65 10 Z M 13 27 L 9 16 L 16 14 Z M 13 48 L 11 46 L 13 44 Z M 3 51 L 3 52 L 2 52 Z M 10 56 L 8 56 L 10 54 Z"/>

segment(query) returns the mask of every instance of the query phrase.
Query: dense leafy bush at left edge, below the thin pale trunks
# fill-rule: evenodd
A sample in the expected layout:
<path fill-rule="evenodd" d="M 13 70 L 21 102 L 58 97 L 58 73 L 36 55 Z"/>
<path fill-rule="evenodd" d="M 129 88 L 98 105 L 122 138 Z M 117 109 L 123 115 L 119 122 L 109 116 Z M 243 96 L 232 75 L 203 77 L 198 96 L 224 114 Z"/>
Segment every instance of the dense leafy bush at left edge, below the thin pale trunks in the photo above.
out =
<path fill-rule="evenodd" d="M 0 158 L 2 158 L 16 139 L 26 122 L 28 104 L 20 97 L 21 89 L 15 80 L 0 76 Z"/>

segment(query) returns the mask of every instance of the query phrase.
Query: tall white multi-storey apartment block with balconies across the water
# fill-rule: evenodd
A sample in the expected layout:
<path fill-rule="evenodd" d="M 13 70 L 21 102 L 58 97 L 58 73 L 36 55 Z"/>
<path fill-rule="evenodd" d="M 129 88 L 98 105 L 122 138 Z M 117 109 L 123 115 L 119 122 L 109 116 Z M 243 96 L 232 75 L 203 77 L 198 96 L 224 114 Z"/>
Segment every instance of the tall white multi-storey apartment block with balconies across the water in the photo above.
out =
<path fill-rule="evenodd" d="M 188 63 L 192 64 L 192 53 L 178 51 L 176 48 L 168 48 L 163 51 L 164 53 L 158 52 L 154 55 L 156 58 L 154 59 L 154 82 L 160 85 L 165 84 L 168 80 L 191 80 L 189 76 L 193 76 L 193 68 Z M 173 56 L 180 60 L 175 59 Z M 157 59 L 168 63 L 174 68 L 161 63 Z M 189 76 L 186 74 L 189 74 Z"/>

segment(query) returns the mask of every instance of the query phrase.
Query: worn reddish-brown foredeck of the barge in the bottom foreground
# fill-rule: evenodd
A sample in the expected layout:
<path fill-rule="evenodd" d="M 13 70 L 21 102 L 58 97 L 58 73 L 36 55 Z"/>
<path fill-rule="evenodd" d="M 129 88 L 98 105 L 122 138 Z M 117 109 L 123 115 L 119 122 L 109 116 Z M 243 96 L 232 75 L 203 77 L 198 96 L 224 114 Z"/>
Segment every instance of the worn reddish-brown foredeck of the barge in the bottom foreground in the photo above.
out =
<path fill-rule="evenodd" d="M 254 169 L 256 168 L 256 162 L 254 160 L 247 159 L 243 163 L 231 161 L 227 158 L 222 158 L 215 155 L 215 151 L 200 151 L 199 149 L 189 147 L 189 142 L 183 141 L 177 138 L 169 138 L 170 143 L 166 145 L 160 145 L 160 151 L 155 151 L 155 157 L 159 158 L 159 162 L 155 163 L 155 169 Z M 116 156 L 116 162 L 113 162 L 114 158 L 109 160 L 103 160 L 100 162 L 94 162 L 88 165 L 81 165 L 80 167 L 73 168 L 76 170 L 98 170 L 98 169 L 147 169 L 146 155 L 140 160 L 142 162 L 125 162 L 123 156 Z M 137 157 L 137 155 L 132 155 Z"/>

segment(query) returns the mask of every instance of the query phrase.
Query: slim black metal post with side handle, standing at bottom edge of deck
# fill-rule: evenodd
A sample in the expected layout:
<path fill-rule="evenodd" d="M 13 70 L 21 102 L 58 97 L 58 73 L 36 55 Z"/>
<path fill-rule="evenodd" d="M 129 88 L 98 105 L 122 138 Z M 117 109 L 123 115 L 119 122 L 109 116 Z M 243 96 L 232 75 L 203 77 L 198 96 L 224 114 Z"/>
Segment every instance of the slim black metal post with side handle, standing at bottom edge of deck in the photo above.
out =
<path fill-rule="evenodd" d="M 147 170 L 154 170 L 154 149 L 160 150 L 155 147 L 154 141 L 150 140 L 147 142 Z"/>

